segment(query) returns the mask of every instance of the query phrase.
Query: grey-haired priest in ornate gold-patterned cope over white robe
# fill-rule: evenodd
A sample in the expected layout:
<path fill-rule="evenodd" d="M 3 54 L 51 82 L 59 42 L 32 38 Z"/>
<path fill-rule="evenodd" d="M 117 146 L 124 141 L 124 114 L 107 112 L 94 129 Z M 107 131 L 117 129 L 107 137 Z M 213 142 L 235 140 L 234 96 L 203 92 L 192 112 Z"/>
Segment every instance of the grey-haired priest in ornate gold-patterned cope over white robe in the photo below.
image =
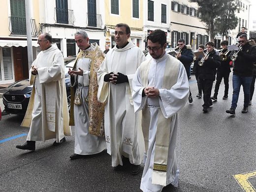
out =
<path fill-rule="evenodd" d="M 75 33 L 75 41 L 81 51 L 76 57 L 73 69 L 68 71 L 72 91 L 75 91 L 71 91 L 70 125 L 74 123 L 75 126 L 75 149 L 70 156 L 71 160 L 106 149 L 104 131 L 98 130 L 92 134 L 89 130 L 96 124 L 94 127 L 100 128 L 100 123 L 103 123 L 104 104 L 97 101 L 96 71 L 104 59 L 104 54 L 96 43 L 89 42 L 85 30 Z M 92 117 L 95 113 L 98 119 Z"/>

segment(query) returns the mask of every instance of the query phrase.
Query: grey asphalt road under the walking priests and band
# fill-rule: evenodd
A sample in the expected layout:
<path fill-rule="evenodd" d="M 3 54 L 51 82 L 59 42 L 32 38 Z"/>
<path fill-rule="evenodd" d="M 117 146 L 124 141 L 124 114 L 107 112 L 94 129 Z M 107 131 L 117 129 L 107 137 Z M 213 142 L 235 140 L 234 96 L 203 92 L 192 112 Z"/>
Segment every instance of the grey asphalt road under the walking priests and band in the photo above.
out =
<path fill-rule="evenodd" d="M 256 187 L 256 96 L 247 114 L 242 114 L 241 89 L 236 116 L 229 98 L 223 100 L 224 84 L 209 113 L 203 114 L 203 99 L 198 99 L 192 75 L 190 86 L 193 102 L 181 111 L 176 154 L 180 169 L 178 188 L 167 186 L 163 192 L 247 192 L 233 175 L 252 172 L 248 176 L 252 191 Z M 215 84 L 214 84 L 215 85 Z M 26 141 L 28 128 L 20 127 L 22 118 L 7 115 L 0 121 L 0 192 L 140 192 L 140 174 L 129 174 L 128 168 L 116 171 L 106 151 L 84 159 L 70 160 L 74 136 L 60 146 L 54 140 L 36 143 L 36 151 L 15 148 Z M 72 129 L 74 133 L 74 129 Z M 17 138 L 11 138 L 16 136 Z M 10 140 L 8 140 L 10 139 Z M 242 178 L 242 177 L 241 177 Z M 238 179 L 241 185 L 246 179 Z M 250 186 L 249 186 L 250 187 Z M 249 191 L 248 191 L 249 192 Z"/>

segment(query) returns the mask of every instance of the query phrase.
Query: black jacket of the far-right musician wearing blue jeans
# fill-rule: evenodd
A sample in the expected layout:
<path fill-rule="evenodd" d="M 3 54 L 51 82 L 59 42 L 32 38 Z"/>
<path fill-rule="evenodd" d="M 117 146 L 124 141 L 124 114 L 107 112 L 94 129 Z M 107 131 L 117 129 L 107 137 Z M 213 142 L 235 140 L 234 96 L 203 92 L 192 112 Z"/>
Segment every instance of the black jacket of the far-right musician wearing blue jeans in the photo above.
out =
<path fill-rule="evenodd" d="M 242 77 L 253 76 L 253 63 L 256 62 L 256 47 L 248 42 L 239 51 L 234 62 L 233 73 Z"/>

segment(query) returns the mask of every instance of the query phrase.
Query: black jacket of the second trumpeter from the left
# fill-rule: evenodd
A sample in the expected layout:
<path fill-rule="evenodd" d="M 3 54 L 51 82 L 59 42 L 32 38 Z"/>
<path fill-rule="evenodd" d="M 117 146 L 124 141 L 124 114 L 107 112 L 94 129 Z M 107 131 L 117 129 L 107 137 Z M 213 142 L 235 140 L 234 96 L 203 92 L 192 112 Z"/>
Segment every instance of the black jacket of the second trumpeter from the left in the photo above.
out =
<path fill-rule="evenodd" d="M 205 52 L 205 51 L 204 51 Z M 194 65 L 201 61 L 201 59 L 197 59 L 194 62 Z M 216 68 L 219 67 L 221 64 L 221 58 L 220 56 L 213 50 L 210 54 L 207 60 L 204 61 L 203 65 L 196 66 L 197 73 L 198 73 L 198 79 L 209 79 L 209 80 L 215 80 L 216 75 Z"/>

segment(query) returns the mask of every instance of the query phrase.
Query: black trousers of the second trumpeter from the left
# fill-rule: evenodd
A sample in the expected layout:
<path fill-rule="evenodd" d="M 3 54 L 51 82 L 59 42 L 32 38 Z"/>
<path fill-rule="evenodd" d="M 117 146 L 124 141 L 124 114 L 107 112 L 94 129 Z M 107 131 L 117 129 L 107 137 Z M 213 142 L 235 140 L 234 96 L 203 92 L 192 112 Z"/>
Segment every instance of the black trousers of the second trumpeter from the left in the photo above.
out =
<path fill-rule="evenodd" d="M 213 102 L 211 99 L 211 93 L 213 88 L 213 80 L 210 79 L 200 79 L 203 90 L 203 105 L 202 107 L 210 107 Z"/>

